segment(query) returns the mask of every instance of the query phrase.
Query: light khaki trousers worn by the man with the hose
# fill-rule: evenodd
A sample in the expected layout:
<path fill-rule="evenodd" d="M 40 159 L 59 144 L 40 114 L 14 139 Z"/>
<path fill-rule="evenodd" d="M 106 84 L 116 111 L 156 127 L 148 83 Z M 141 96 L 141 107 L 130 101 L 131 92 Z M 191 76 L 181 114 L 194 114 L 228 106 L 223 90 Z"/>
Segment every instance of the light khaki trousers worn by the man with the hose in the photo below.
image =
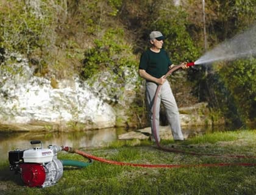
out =
<path fill-rule="evenodd" d="M 146 82 L 146 98 L 149 106 L 149 118 L 151 119 L 151 131 L 152 135 L 154 135 L 152 129 L 152 120 L 153 120 L 153 104 L 155 91 L 157 90 L 157 84 L 154 82 Z M 169 85 L 168 80 L 163 83 L 161 90 L 157 96 L 157 105 L 155 109 L 155 126 L 158 134 L 158 141 L 160 141 L 159 137 L 159 112 L 160 112 L 160 103 L 163 103 L 166 111 L 166 118 L 168 119 L 169 125 L 171 126 L 171 132 L 174 140 L 183 140 L 182 130 L 180 127 L 180 116 L 179 110 L 175 101 L 175 98 L 172 94 L 171 87 Z"/>

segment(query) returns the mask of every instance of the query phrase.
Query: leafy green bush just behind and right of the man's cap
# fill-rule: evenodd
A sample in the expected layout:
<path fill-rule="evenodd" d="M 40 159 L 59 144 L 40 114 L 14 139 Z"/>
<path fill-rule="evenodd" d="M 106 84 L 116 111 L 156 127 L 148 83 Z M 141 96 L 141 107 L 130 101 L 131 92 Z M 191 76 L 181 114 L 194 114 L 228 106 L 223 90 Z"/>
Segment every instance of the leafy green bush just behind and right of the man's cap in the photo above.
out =
<path fill-rule="evenodd" d="M 170 5 L 160 11 L 160 18 L 151 26 L 165 35 L 165 49 L 171 52 L 170 57 L 174 63 L 193 62 L 199 57 L 199 49 L 186 29 L 187 17 L 187 13 L 182 9 Z"/>

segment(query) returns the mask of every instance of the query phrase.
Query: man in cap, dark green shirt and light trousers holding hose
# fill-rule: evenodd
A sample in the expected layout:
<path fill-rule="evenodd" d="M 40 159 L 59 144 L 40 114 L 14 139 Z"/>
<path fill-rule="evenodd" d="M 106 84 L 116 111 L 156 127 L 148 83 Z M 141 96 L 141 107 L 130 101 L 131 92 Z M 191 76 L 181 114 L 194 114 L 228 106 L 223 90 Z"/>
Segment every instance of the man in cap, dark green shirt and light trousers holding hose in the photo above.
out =
<path fill-rule="evenodd" d="M 140 77 L 146 79 L 146 99 L 149 106 L 149 117 L 151 119 L 152 135 L 154 135 L 152 129 L 154 96 L 158 85 L 162 85 L 162 88 L 158 93 L 157 105 L 155 110 L 155 125 L 158 137 L 155 138 L 153 136 L 152 141 L 155 141 L 155 139 L 157 139 L 160 142 L 158 129 L 161 102 L 163 102 L 163 105 L 165 107 L 166 117 L 168 119 L 169 125 L 171 126 L 172 136 L 174 140 L 183 141 L 184 138 L 180 127 L 179 110 L 176 104 L 176 100 L 172 94 L 169 82 L 165 78 L 163 78 L 163 76 L 165 76 L 169 69 L 175 66 L 169 59 L 165 49 L 162 49 L 164 39 L 165 37 L 163 37 L 161 32 L 151 32 L 151 34 L 149 35 L 151 47 L 144 51 L 141 55 L 139 74 Z M 188 68 L 187 64 L 182 63 L 182 68 Z"/>

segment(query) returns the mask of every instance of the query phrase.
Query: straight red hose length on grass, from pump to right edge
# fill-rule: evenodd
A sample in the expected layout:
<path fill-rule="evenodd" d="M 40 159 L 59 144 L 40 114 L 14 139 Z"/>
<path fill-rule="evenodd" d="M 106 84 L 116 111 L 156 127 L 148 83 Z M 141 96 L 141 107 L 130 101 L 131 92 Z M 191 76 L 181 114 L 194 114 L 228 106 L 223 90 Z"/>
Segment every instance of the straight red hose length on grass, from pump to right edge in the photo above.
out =
<path fill-rule="evenodd" d="M 151 164 L 137 164 L 137 163 L 126 163 L 119 162 L 114 160 L 107 160 L 105 158 L 96 157 L 94 155 L 87 154 L 84 151 L 79 151 L 77 149 L 73 149 L 72 147 L 63 147 L 63 151 L 76 153 L 82 155 L 85 158 L 89 158 L 91 160 L 100 161 L 102 163 L 108 163 L 112 165 L 120 165 L 120 166 L 138 166 L 143 168 L 188 168 L 188 167 L 202 167 L 202 166 L 256 166 L 256 163 L 213 163 L 213 164 L 198 164 L 198 165 L 151 165 Z"/>

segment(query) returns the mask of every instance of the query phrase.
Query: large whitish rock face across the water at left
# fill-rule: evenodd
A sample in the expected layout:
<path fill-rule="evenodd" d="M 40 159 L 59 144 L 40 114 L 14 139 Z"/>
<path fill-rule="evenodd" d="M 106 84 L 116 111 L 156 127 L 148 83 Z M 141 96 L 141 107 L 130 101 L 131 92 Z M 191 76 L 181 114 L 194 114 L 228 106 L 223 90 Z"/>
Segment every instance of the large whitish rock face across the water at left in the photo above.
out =
<path fill-rule="evenodd" d="M 78 77 L 59 80 L 59 88 L 53 88 L 50 79 L 34 76 L 26 59 L 19 57 L 17 61 L 10 65 L 12 72 L 0 71 L 0 124 L 38 126 L 48 122 L 68 126 L 71 122 L 85 124 L 87 129 L 115 126 L 111 105 L 91 93 L 87 83 Z"/>

